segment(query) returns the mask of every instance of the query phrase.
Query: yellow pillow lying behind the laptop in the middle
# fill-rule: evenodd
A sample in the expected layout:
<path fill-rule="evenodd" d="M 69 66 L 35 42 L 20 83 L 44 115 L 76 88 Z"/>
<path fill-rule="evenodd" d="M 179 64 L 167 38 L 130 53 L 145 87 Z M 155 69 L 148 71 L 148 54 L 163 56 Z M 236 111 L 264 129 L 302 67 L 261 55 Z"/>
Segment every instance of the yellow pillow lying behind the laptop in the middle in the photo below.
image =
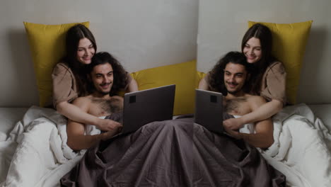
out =
<path fill-rule="evenodd" d="M 152 89 L 169 84 L 176 85 L 173 115 L 194 113 L 194 88 L 196 79 L 196 61 L 154 67 L 134 72 L 139 90 Z"/>

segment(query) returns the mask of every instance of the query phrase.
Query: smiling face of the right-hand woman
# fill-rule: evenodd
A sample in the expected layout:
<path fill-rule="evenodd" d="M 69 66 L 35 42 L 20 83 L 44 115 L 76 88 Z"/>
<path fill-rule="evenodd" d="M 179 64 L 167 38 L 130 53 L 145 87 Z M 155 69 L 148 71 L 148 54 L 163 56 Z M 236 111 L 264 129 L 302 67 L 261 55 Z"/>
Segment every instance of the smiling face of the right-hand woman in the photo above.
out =
<path fill-rule="evenodd" d="M 262 57 L 260 39 L 252 37 L 245 43 L 243 53 L 248 63 L 255 63 Z"/>

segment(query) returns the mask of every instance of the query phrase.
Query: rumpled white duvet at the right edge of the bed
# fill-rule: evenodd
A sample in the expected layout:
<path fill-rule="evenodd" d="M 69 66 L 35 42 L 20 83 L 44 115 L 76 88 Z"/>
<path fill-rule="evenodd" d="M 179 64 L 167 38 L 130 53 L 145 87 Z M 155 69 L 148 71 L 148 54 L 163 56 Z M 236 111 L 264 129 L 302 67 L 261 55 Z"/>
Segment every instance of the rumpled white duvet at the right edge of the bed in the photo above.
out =
<path fill-rule="evenodd" d="M 331 186 L 331 135 L 305 104 L 274 116 L 274 144 L 262 155 L 288 186 Z"/>

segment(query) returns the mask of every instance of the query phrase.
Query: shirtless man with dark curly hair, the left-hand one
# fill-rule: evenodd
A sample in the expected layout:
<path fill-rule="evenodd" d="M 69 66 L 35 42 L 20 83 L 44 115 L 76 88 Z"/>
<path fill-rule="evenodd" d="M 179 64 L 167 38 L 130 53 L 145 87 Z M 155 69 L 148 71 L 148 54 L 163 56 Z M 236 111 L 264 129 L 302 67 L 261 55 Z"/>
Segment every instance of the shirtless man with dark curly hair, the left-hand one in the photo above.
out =
<path fill-rule="evenodd" d="M 73 104 L 97 117 L 122 112 L 123 98 L 116 94 L 129 80 L 120 62 L 108 52 L 98 52 L 93 56 L 86 73 L 90 95 L 76 98 Z M 100 140 L 108 140 L 121 127 L 120 123 L 112 120 L 112 130 L 100 135 L 86 135 L 86 124 L 69 119 L 66 128 L 67 145 L 73 150 L 88 149 Z"/>

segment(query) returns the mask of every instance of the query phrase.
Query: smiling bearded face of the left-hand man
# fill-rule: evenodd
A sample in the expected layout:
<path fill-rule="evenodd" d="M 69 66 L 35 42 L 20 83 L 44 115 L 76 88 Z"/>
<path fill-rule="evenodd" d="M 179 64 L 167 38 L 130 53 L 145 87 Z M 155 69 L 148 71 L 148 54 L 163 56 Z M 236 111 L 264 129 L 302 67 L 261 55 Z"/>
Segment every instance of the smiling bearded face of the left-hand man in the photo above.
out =
<path fill-rule="evenodd" d="M 114 80 L 112 71 L 112 65 L 109 63 L 100 64 L 93 68 L 91 79 L 95 90 L 98 91 L 98 93 L 103 95 L 110 93 L 110 89 L 112 89 L 112 81 Z"/>

